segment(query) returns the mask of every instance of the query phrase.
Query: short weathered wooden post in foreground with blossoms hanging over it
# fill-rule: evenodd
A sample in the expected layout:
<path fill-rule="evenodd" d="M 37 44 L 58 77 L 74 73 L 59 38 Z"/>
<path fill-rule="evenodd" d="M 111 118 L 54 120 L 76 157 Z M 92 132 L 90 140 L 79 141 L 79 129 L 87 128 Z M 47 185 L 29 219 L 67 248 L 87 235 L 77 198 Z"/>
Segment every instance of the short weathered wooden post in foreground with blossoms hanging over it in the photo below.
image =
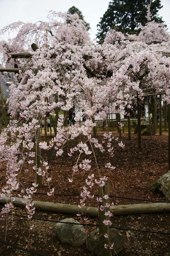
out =
<path fill-rule="evenodd" d="M 109 183 L 105 182 L 104 187 L 98 187 L 99 189 L 99 198 L 102 198 L 102 202 L 99 202 L 100 206 L 105 206 L 106 203 L 110 204 L 110 199 L 104 199 L 103 195 L 108 195 L 109 197 Z M 106 211 L 110 211 L 110 207 L 105 208 Z M 109 225 L 103 223 L 104 220 L 110 220 L 110 216 L 106 216 L 105 210 L 101 211 L 99 209 L 99 245 L 100 245 L 100 256 L 111 256 L 110 250 L 110 228 Z M 108 235 L 108 238 L 104 237 L 104 234 Z M 105 244 L 108 244 L 108 248 L 104 247 Z"/>

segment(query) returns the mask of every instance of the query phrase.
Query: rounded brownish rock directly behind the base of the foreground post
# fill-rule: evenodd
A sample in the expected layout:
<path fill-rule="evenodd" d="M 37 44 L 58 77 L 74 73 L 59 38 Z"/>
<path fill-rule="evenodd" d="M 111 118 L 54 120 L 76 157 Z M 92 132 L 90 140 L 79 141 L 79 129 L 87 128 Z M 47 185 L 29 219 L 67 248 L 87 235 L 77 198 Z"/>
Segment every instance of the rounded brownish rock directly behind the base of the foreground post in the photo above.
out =
<path fill-rule="evenodd" d="M 116 253 L 118 254 L 119 252 L 122 251 L 123 247 L 125 246 L 126 238 L 123 234 L 120 234 L 116 229 L 110 229 L 110 232 L 111 232 L 111 243 L 114 243 L 113 247 Z M 100 254 L 99 228 L 91 232 L 89 237 L 87 238 L 87 249 L 95 255 Z M 114 250 L 112 250 L 112 255 L 116 255 Z"/>

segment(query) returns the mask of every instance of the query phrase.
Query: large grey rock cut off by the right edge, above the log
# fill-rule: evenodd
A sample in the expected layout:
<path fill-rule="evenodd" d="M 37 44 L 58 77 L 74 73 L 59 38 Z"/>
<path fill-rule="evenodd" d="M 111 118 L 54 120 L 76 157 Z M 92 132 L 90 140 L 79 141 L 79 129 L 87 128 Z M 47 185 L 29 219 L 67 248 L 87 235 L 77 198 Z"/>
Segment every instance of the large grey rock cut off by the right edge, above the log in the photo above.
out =
<path fill-rule="evenodd" d="M 157 181 L 167 201 L 170 201 L 170 170 Z"/>

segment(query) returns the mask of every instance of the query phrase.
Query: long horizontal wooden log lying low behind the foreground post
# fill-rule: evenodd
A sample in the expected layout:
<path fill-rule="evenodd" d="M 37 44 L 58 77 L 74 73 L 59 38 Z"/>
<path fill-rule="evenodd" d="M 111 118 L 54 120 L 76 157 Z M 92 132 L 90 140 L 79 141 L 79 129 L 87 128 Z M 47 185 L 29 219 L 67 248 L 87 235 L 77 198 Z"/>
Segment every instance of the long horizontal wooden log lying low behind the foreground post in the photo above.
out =
<path fill-rule="evenodd" d="M 11 198 L 12 200 L 14 197 Z M 27 201 L 27 199 L 15 197 L 15 201 L 13 201 L 13 205 L 16 206 L 26 206 L 26 203 L 22 203 L 23 201 Z M 8 202 L 10 200 L 8 199 Z M 59 204 L 59 203 L 51 203 L 51 202 L 42 202 L 42 201 L 31 201 L 34 203 L 35 209 L 43 210 L 43 211 L 53 211 L 53 212 L 63 212 L 68 214 L 78 214 L 81 209 L 78 205 L 68 205 L 68 204 Z M 6 197 L 0 199 L 0 204 L 6 204 Z M 126 215 L 126 214 L 142 214 L 142 213 L 155 213 L 155 212 L 166 212 L 170 211 L 169 203 L 149 203 L 149 204 L 135 204 L 135 205 L 115 205 L 110 207 L 110 211 L 113 212 L 114 215 Z M 86 210 L 86 207 L 82 208 L 83 213 L 89 213 L 90 216 L 98 217 L 98 208 L 90 207 L 89 210 Z"/>

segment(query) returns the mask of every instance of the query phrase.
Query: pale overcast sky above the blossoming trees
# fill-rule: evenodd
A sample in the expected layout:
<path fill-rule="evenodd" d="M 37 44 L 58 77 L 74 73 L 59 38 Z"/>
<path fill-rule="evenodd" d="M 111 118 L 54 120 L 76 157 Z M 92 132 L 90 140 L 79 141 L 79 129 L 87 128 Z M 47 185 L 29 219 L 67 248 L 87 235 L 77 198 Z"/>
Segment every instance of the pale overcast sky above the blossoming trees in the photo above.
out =
<path fill-rule="evenodd" d="M 35 23 L 45 20 L 48 11 L 67 12 L 76 6 L 90 23 L 91 39 L 97 34 L 97 24 L 106 12 L 110 0 L 0 0 L 0 28 L 17 21 Z M 161 0 L 163 8 L 159 11 L 170 31 L 170 0 Z"/>

